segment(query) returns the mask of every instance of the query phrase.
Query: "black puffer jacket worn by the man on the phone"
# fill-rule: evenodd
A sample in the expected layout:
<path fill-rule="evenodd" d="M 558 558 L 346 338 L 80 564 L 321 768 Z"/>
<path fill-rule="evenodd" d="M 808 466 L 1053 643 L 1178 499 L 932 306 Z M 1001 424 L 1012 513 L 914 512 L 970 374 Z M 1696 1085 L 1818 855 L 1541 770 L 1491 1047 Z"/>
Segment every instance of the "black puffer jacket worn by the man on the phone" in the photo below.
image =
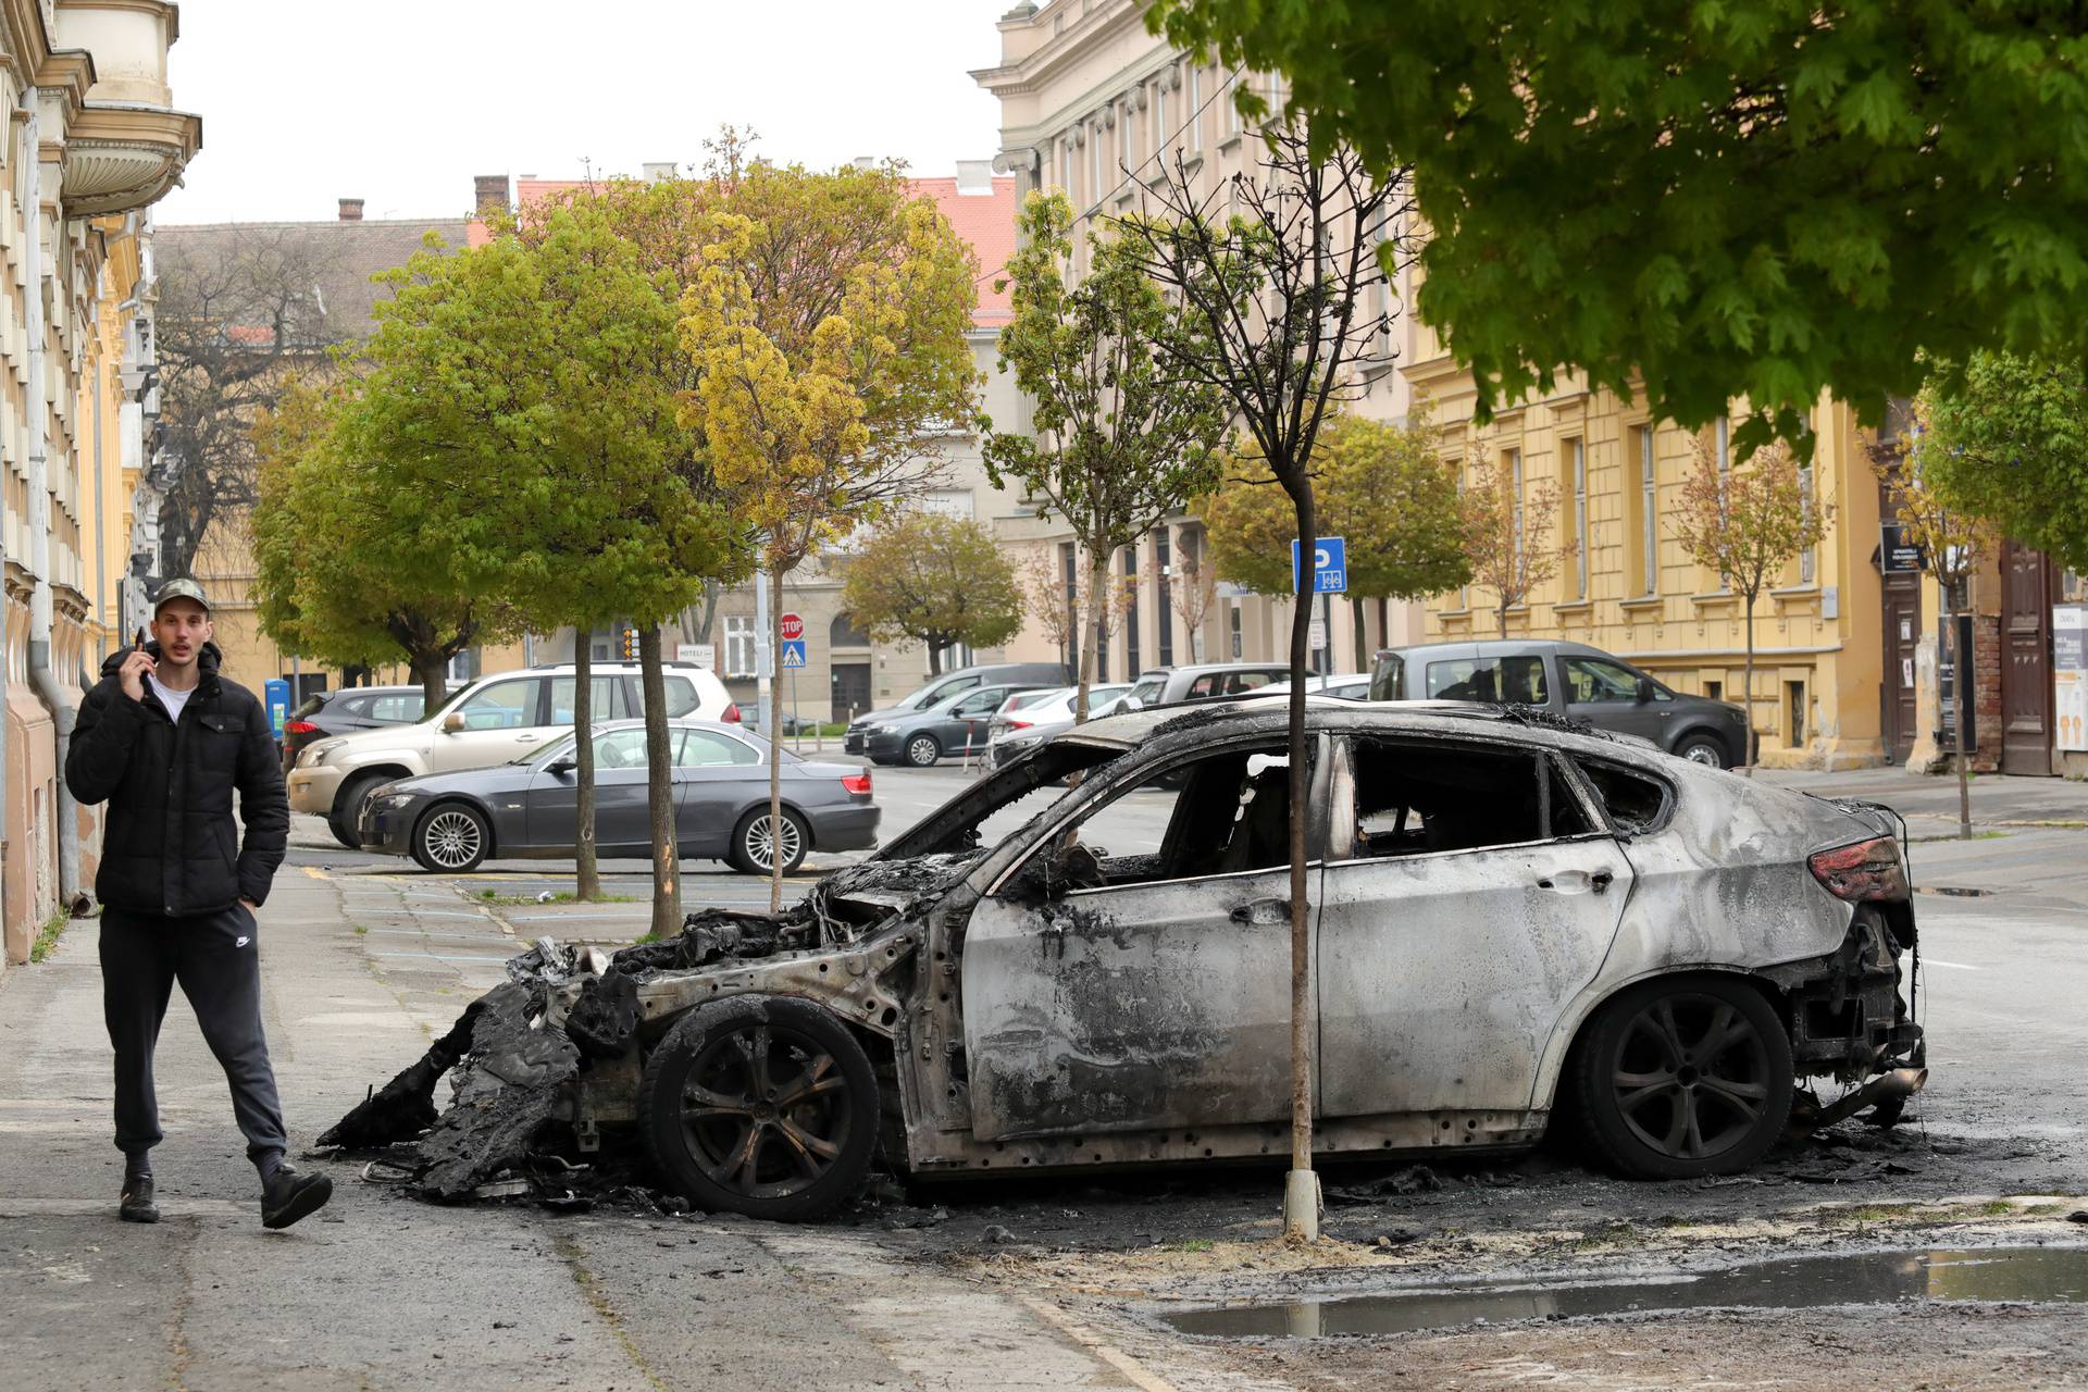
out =
<path fill-rule="evenodd" d="M 159 657 L 157 643 L 144 651 Z M 94 893 L 140 914 L 261 904 L 290 839 L 290 799 L 267 712 L 255 693 L 217 676 L 217 645 L 205 643 L 196 657 L 203 680 L 175 724 L 150 682 L 142 701 L 123 695 L 117 670 L 127 655 L 119 649 L 102 664 L 65 758 L 73 797 L 109 799 Z M 244 845 L 232 820 L 234 789 Z"/>

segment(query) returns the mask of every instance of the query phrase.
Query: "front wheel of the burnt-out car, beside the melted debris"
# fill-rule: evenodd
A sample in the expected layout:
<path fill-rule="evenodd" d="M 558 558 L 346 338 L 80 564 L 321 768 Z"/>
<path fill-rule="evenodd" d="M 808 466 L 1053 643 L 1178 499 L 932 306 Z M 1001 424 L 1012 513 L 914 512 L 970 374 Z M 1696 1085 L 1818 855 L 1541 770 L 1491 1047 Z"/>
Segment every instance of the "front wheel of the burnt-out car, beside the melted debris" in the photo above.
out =
<path fill-rule="evenodd" d="M 869 1171 L 877 1075 L 818 1006 L 733 995 L 666 1031 L 645 1060 L 639 1117 L 660 1175 L 697 1208 L 816 1219 Z"/>

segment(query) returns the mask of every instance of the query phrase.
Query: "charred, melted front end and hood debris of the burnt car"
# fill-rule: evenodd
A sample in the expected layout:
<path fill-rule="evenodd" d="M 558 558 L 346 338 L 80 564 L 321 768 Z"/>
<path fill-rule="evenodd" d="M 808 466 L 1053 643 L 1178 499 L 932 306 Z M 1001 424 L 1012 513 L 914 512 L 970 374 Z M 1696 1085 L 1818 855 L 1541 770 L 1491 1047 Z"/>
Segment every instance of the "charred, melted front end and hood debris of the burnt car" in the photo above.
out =
<path fill-rule="evenodd" d="M 660 973 L 681 973 L 731 960 L 758 960 L 858 941 L 862 927 L 839 908 L 869 897 L 889 912 L 946 889 L 981 851 L 869 860 L 821 881 L 779 916 L 702 910 L 666 941 L 601 954 L 593 947 L 537 939 L 507 960 L 507 981 L 474 1000 L 434 1046 L 390 1083 L 363 1098 L 319 1137 L 319 1146 L 382 1152 L 397 1181 L 436 1202 L 532 1196 L 578 1210 L 603 1198 L 658 1206 L 628 1183 L 635 1156 L 597 1156 L 572 1165 L 560 1150 L 572 1133 L 570 1094 L 591 1066 L 631 1054 L 639 1025 L 637 987 Z M 883 916 L 879 916 L 883 920 Z M 551 993 L 578 979 L 562 1023 L 551 1018 Z M 451 1075 L 449 1106 L 436 1112 L 434 1085 Z"/>

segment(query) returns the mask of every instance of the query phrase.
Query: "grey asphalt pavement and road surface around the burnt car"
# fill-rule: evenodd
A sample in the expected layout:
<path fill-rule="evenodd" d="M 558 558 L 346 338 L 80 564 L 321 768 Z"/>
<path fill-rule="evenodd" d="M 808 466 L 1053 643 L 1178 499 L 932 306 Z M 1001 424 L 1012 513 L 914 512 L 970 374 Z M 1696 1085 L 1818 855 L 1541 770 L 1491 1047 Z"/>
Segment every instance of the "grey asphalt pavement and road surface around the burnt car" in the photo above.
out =
<path fill-rule="evenodd" d="M 877 770 L 887 833 L 965 783 L 956 766 Z M 2088 789 L 2009 783 L 1979 789 L 1986 820 L 2088 820 L 2078 816 Z M 1888 801 L 1898 793 L 1923 818 L 1921 835 L 1948 831 L 1948 812 L 1925 806 L 1933 785 L 1871 776 L 1865 789 L 1837 791 Z M 1105 839 L 1130 849 L 1125 837 L 1157 835 L 1153 814 L 1153 806 L 1134 808 Z M 1526 1261 L 1533 1235 L 1547 1233 L 1556 1235 L 1545 1248 L 1556 1261 L 1610 1267 L 1785 1252 L 1817 1240 L 1823 1225 L 1808 1215 L 1823 1200 L 1860 1202 L 1877 1215 L 2011 1194 L 2075 1196 L 2059 1208 L 2082 1206 L 2088 887 L 2080 866 L 2088 864 L 2088 833 L 2032 824 L 1996 833 L 1915 847 L 1933 1066 L 1915 1106 L 1919 1125 L 1883 1139 L 1858 1133 L 1869 1148 L 1787 1154 L 1758 1183 L 1737 1187 L 1629 1185 L 1558 1160 L 1503 1175 L 1439 1167 L 1441 1192 L 1332 1206 L 1334 1242 L 1307 1254 L 1270 1242 L 1278 1177 L 1265 1171 L 952 1185 L 925 1192 L 921 1208 L 900 1204 L 860 1213 L 854 1225 L 785 1229 L 608 1210 L 430 1208 L 332 1167 L 338 1198 L 322 1217 L 263 1233 L 223 1079 L 180 995 L 159 1056 L 167 1142 L 157 1169 L 167 1221 L 121 1225 L 113 1217 L 119 1158 L 109 1144 L 94 925 L 79 922 L 50 962 L 0 977 L 0 1329 L 8 1384 L 1188 1392 L 1378 1386 L 1395 1377 L 1409 1386 L 1501 1386 L 1549 1367 L 1543 1379 L 1564 1386 L 1677 1386 L 1677 1367 L 1698 1367 L 1672 1363 L 1691 1340 L 1662 1336 L 1658 1321 L 1604 1325 L 1599 1338 L 1568 1321 L 1535 1334 L 1340 1340 L 1286 1354 L 1169 1336 L 1148 1313 L 1190 1296 L 1278 1298 L 1324 1292 L 1330 1281 L 1368 1290 L 1372 1281 L 1464 1277 L 1514 1254 Z M 833 860 L 812 862 L 827 864 Z M 643 933 L 643 866 L 608 870 L 610 889 L 631 902 L 537 904 L 537 893 L 570 889 L 570 866 L 509 862 L 470 877 L 422 874 L 409 862 L 342 851 L 324 824 L 301 818 L 290 864 L 261 912 L 265 1021 L 292 1139 L 309 1144 L 365 1085 L 418 1056 L 501 979 L 501 962 L 530 937 L 614 943 Z M 796 877 L 793 887 L 812 877 Z M 758 906 L 764 889 L 722 866 L 687 868 L 691 908 Z M 1877 1144 L 1888 1150 L 1877 1152 Z M 1881 1154 L 1890 1165 L 1877 1162 Z M 1846 1156 L 1865 1158 L 1850 1165 Z M 1670 1246 L 1639 1240 L 1629 1252 L 1604 1248 L 1587 1235 L 1597 1219 L 1601 1231 L 1672 1233 Z M 1704 1227 L 1691 1227 L 1698 1223 Z M 1948 1231 L 1908 1223 L 1877 1217 L 1856 1240 L 1948 1244 L 1965 1235 L 1963 1223 Z M 2063 1231 L 2063 1219 L 2050 1223 Z M 1850 1240 L 1846 1223 L 1825 1227 L 1833 1233 L 1827 1242 Z M 1384 1231 L 1401 1233 L 1399 1246 L 1372 1246 Z M 2038 1229 L 2030 1240 L 2050 1233 Z M 1810 1348 L 1856 1348 L 1879 1325 L 1877 1311 L 1860 1309 L 1804 1319 Z M 1990 1382 L 1992 1359 L 1967 1371 L 1963 1359 L 1975 1354 L 1952 1352 L 1952 1319 L 1961 1317 L 1917 1321 L 1927 1342 L 1902 1336 L 1898 1361 L 1881 1359 L 1877 1377 L 1860 1359 L 1829 1359 L 1779 1365 L 1777 1386 L 2009 1386 Z M 2011 1348 L 2042 1359 L 2027 1382 L 2057 1386 L 2088 1375 L 2078 1352 L 2084 1342 L 2061 1334 L 2038 1313 L 2011 1319 Z M 1988 1357 L 1992 1340 L 1956 1344 Z M 1670 1363 L 1658 1365 L 1658 1357 Z M 1754 1367 L 1766 1361 L 1758 1354 Z"/>

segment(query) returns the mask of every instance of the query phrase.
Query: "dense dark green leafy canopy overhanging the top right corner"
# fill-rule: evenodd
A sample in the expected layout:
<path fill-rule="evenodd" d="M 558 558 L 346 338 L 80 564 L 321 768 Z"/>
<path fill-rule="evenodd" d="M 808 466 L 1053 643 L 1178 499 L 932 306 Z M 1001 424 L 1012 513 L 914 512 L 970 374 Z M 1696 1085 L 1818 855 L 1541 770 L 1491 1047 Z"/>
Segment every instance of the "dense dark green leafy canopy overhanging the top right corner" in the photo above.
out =
<path fill-rule="evenodd" d="M 1691 428 L 1746 397 L 1771 413 L 1754 447 L 1823 390 L 1911 392 L 1923 349 L 2088 342 L 2080 6 L 1159 0 L 1146 21 L 1282 71 L 1322 146 L 1411 165 L 1418 309 L 1480 419 L 1579 367 Z"/>

